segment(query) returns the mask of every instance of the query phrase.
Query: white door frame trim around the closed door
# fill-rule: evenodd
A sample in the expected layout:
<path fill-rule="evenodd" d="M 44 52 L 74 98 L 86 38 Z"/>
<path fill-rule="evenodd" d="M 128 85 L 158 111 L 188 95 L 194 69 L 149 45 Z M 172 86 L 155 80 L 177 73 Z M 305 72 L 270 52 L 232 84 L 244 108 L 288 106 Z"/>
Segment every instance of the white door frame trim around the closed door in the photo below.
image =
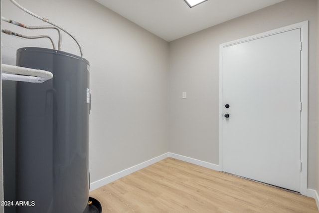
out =
<path fill-rule="evenodd" d="M 300 117 L 300 160 L 302 170 L 300 173 L 300 193 L 307 196 L 308 187 L 308 20 L 296 24 L 284 26 L 278 29 L 259 33 L 249 37 L 222 43 L 219 45 L 219 169 L 223 168 L 223 49 L 224 47 L 255 40 L 258 38 L 301 29 L 301 102 L 302 111 Z"/>

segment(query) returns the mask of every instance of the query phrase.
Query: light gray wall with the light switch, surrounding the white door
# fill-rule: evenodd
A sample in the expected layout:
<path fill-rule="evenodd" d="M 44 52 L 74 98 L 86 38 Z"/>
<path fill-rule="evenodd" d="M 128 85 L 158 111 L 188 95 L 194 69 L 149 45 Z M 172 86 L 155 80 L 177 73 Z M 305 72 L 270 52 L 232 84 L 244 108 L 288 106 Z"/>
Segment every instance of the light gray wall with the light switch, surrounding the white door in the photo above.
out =
<path fill-rule="evenodd" d="M 170 152 L 218 165 L 219 44 L 304 20 L 310 21 L 308 187 L 316 189 L 317 0 L 285 0 L 170 42 Z"/>

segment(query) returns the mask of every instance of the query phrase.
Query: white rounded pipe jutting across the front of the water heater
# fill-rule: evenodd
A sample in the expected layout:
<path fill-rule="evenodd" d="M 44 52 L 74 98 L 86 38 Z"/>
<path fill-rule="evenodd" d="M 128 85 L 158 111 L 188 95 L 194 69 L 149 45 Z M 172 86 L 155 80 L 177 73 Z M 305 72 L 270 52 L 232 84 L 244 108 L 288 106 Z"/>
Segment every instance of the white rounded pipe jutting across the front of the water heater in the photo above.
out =
<path fill-rule="evenodd" d="M 53 78 L 51 72 L 40 69 L 31 69 L 7 64 L 1 64 L 1 68 L 2 80 L 42 83 Z"/>

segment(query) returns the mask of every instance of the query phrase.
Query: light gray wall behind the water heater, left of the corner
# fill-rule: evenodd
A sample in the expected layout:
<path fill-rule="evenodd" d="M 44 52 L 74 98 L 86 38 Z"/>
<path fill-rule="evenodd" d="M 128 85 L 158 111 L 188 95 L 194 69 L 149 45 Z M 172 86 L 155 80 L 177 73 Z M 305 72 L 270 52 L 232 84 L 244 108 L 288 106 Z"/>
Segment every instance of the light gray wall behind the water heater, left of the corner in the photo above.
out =
<path fill-rule="evenodd" d="M 21 0 L 23 6 L 68 29 L 90 61 L 91 182 L 168 152 L 168 43 L 94 0 Z M 2 15 L 27 25 L 43 25 L 3 1 Z M 50 34 L 7 23 L 21 34 Z M 23 46 L 51 48 L 47 39 L 25 40 L 2 35 L 3 63 L 15 63 Z M 79 54 L 65 33 L 62 50 Z M 5 125 L 5 124 L 4 124 Z"/>

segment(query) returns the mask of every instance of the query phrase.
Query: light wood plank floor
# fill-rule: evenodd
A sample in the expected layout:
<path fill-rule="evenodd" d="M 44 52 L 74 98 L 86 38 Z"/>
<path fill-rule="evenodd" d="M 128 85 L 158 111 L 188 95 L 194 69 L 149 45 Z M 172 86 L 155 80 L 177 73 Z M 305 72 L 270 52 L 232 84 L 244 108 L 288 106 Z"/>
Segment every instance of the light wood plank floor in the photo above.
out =
<path fill-rule="evenodd" d="M 312 198 L 172 158 L 90 196 L 103 213 L 318 213 Z"/>

